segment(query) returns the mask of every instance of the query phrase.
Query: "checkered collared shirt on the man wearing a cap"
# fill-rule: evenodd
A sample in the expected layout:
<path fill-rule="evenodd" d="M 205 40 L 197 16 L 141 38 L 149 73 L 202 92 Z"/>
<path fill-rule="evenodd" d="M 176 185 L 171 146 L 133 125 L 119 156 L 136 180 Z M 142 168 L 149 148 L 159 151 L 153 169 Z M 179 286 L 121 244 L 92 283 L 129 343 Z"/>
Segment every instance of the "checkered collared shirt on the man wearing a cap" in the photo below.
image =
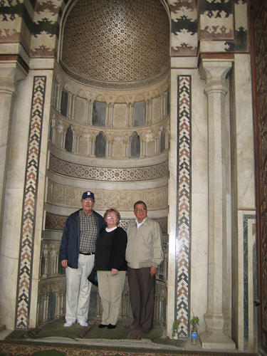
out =
<path fill-rule="evenodd" d="M 79 212 L 80 217 L 80 252 L 95 253 L 95 241 L 98 237 L 98 226 L 94 214 L 85 214 L 83 210 Z"/>

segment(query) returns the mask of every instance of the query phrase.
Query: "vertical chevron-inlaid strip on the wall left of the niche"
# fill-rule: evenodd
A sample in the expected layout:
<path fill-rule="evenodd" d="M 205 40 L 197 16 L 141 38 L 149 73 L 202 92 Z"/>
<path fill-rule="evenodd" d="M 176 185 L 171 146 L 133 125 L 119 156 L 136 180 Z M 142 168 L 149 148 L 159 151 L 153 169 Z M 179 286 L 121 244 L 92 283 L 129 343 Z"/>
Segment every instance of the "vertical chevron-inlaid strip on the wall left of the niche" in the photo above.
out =
<path fill-rule="evenodd" d="M 45 98 L 46 77 L 34 77 L 31 103 L 31 122 L 28 140 L 28 157 L 23 199 L 21 245 L 19 256 L 19 288 L 16 306 L 16 328 L 28 328 L 31 300 L 31 271 L 35 211 L 38 186 L 38 165 L 41 146 L 41 127 Z"/>

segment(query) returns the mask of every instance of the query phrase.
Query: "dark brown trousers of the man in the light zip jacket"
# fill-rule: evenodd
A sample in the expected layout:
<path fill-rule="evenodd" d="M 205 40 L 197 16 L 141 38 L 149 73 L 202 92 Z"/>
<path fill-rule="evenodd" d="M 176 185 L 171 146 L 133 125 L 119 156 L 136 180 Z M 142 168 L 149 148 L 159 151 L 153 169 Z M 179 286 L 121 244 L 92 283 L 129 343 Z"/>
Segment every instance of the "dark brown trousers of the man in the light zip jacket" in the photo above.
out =
<path fill-rule="evenodd" d="M 132 325 L 150 330 L 153 328 L 156 277 L 150 276 L 150 267 L 128 267 L 127 274 L 134 318 Z"/>

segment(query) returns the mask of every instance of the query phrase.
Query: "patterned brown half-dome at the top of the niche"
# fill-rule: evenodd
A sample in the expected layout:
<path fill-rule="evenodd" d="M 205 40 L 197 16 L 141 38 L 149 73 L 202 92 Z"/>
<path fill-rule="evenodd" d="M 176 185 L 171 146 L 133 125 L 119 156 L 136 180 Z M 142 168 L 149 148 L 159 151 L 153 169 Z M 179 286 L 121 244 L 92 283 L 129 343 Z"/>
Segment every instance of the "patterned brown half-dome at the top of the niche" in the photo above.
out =
<path fill-rule="evenodd" d="M 167 11 L 160 0 L 76 1 L 63 30 L 61 66 L 92 85 L 151 84 L 169 69 Z"/>

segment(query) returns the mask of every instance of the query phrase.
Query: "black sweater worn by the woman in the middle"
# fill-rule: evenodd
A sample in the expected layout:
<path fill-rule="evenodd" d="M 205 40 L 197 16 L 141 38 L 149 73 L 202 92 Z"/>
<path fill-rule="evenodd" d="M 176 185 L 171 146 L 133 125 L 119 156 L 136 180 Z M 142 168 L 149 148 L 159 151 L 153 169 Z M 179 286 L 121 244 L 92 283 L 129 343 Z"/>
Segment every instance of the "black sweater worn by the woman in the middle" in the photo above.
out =
<path fill-rule="evenodd" d="M 127 246 L 127 234 L 121 227 L 107 232 L 100 232 L 100 239 L 96 243 L 95 267 L 98 271 L 127 271 L 125 251 Z"/>

